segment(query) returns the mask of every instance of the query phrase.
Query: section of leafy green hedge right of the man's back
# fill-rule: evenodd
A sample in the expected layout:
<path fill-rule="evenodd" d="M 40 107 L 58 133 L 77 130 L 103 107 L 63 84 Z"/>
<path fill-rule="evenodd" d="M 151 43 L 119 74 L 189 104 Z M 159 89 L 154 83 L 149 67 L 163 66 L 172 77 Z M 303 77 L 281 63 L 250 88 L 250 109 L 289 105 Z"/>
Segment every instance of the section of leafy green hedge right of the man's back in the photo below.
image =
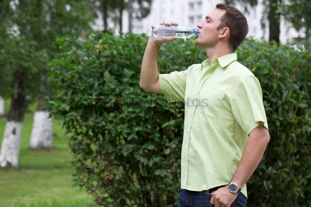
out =
<path fill-rule="evenodd" d="M 310 52 L 309 42 L 247 41 L 239 48 L 240 61 L 261 83 L 271 137 L 249 182 L 254 206 L 311 206 Z"/>

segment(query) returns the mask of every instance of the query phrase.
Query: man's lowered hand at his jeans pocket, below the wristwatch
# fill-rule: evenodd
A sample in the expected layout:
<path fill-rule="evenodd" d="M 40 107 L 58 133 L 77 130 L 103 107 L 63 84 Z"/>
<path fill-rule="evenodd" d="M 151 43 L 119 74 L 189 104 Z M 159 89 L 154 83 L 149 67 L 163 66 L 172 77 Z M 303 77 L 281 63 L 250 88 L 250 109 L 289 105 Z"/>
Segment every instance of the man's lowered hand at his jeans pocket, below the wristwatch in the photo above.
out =
<path fill-rule="evenodd" d="M 230 207 L 238 196 L 237 193 L 231 193 L 228 186 L 219 188 L 217 191 L 213 191 L 211 195 L 213 195 L 211 197 L 211 204 L 214 204 L 215 207 Z"/>

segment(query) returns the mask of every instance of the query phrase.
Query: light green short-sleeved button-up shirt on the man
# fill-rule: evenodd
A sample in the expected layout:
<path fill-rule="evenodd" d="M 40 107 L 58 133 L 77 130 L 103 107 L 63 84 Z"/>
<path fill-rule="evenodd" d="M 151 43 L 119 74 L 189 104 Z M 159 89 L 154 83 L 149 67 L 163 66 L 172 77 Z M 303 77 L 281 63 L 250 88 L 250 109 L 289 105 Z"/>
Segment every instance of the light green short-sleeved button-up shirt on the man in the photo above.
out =
<path fill-rule="evenodd" d="M 268 129 L 258 79 L 236 61 L 236 53 L 186 71 L 160 74 L 168 102 L 184 101 L 181 188 L 203 191 L 230 182 L 249 133 Z M 239 186 L 242 187 L 242 186 Z M 247 196 L 246 186 L 241 191 Z"/>

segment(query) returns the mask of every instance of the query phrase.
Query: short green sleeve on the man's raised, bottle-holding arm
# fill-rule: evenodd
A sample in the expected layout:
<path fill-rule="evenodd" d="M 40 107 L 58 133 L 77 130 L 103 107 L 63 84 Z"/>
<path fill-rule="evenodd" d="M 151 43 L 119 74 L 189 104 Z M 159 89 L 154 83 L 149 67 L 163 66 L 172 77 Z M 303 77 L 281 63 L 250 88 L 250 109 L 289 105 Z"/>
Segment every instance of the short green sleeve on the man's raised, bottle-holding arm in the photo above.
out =
<path fill-rule="evenodd" d="M 184 101 L 188 70 L 159 75 L 160 88 L 168 102 Z"/>

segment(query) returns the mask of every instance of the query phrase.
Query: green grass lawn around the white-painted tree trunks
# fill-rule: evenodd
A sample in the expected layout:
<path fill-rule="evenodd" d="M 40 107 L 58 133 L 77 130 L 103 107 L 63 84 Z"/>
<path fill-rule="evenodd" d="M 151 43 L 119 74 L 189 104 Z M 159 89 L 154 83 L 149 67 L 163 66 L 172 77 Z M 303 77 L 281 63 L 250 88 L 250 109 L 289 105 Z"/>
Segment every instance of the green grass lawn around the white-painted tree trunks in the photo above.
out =
<path fill-rule="evenodd" d="M 9 101 L 5 102 L 8 112 Z M 60 207 L 86 206 L 93 197 L 84 189 L 71 188 L 72 154 L 58 120 L 53 120 L 53 150 L 28 150 L 35 104 L 25 115 L 19 154 L 19 167 L 0 168 L 0 207 Z M 0 117 L 2 143 L 6 117 Z"/>

